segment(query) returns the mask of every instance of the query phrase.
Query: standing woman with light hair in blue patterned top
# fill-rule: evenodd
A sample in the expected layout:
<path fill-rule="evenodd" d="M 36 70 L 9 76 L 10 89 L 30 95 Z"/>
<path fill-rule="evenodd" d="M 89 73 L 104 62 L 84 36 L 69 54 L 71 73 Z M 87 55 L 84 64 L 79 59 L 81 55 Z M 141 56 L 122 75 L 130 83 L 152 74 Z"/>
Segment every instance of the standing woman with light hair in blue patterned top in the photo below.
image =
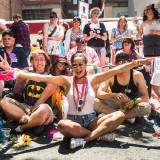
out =
<path fill-rule="evenodd" d="M 126 17 L 119 18 L 117 27 L 112 29 L 112 64 L 115 62 L 115 54 L 122 48 L 123 38 L 131 37 L 131 30 L 128 28 L 128 21 Z"/>

